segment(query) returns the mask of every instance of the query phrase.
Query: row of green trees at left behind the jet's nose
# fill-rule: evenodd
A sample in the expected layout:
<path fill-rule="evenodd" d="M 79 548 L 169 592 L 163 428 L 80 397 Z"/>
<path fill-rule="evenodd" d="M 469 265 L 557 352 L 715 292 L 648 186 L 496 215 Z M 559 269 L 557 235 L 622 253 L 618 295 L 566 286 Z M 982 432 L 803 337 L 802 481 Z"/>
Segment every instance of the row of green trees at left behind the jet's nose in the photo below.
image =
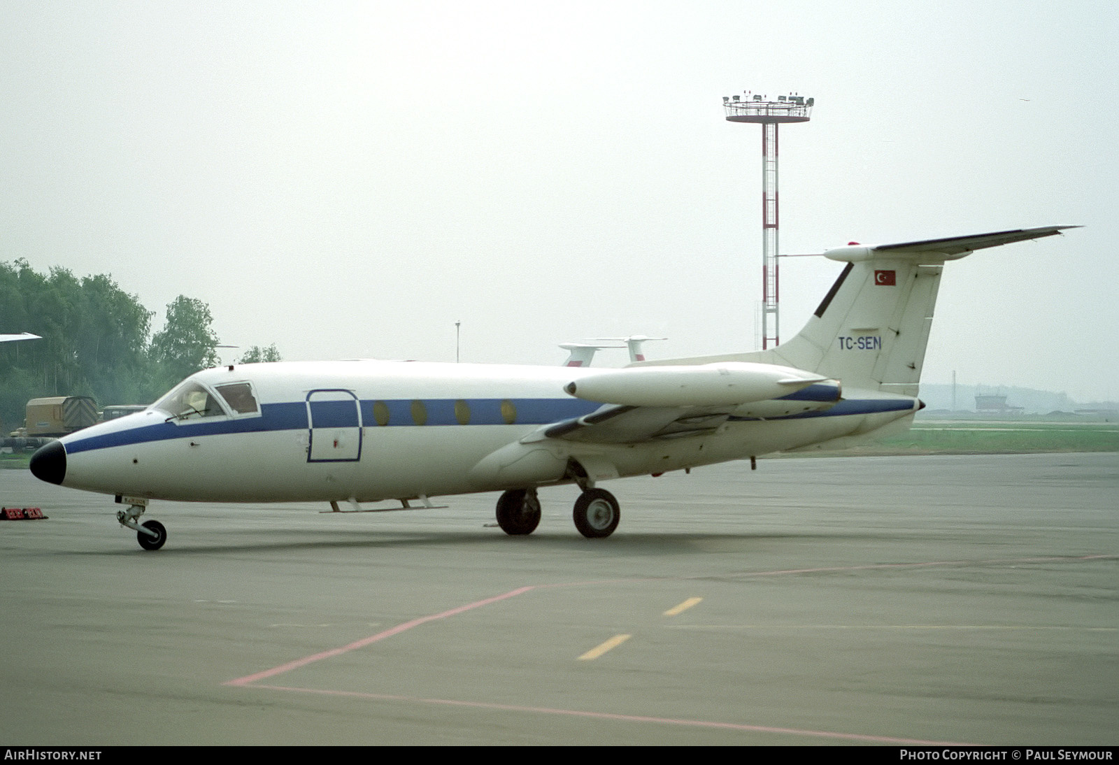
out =
<path fill-rule="evenodd" d="M 78 278 L 67 268 L 41 274 L 27 261 L 0 262 L 0 332 L 41 340 L 0 343 L 0 422 L 23 421 L 27 402 L 92 396 L 106 404 L 150 404 L 182 378 L 220 362 L 209 306 L 179 295 L 162 329 L 156 313 L 109 274 Z M 279 361 L 275 344 L 252 347 L 238 362 Z"/>

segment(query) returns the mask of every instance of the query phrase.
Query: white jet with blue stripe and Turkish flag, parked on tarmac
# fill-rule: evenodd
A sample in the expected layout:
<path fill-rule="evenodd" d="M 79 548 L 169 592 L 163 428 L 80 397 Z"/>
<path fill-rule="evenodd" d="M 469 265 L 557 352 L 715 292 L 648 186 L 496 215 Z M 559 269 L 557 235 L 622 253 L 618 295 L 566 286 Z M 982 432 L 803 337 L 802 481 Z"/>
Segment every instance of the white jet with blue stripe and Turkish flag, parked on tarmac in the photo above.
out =
<path fill-rule="evenodd" d="M 115 494 L 145 549 L 149 500 L 432 507 L 501 491 L 497 522 L 527 535 L 537 489 L 574 483 L 575 527 L 606 537 L 602 481 L 904 431 L 946 261 L 1068 226 L 825 253 L 847 265 L 807 325 L 772 349 L 623 369 L 335 361 L 229 365 L 191 375 L 144 412 L 43 446 L 44 481 Z"/>

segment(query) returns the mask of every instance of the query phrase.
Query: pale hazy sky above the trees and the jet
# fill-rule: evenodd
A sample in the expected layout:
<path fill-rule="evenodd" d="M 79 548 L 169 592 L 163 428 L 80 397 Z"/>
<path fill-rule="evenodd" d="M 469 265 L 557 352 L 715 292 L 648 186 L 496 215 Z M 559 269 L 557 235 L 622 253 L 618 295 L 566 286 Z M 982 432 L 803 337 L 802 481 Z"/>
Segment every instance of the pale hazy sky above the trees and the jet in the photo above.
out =
<path fill-rule="evenodd" d="M 1119 398 L 1119 4 L 778 6 L 0 0 L 0 259 L 291 360 L 753 350 L 722 96 L 796 91 L 782 252 L 1083 225 L 948 264 L 924 381 Z M 782 337 L 839 268 L 782 263 Z"/>

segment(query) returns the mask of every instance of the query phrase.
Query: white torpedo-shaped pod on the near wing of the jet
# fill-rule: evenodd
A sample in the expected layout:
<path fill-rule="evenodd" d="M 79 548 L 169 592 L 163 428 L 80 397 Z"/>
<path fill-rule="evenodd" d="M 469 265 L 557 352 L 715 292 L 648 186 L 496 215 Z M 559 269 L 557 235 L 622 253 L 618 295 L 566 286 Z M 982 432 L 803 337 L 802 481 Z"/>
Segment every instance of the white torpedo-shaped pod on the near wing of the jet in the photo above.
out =
<path fill-rule="evenodd" d="M 803 369 L 750 361 L 629 367 L 564 386 L 572 396 L 622 406 L 734 406 L 781 398 L 827 378 Z"/>

